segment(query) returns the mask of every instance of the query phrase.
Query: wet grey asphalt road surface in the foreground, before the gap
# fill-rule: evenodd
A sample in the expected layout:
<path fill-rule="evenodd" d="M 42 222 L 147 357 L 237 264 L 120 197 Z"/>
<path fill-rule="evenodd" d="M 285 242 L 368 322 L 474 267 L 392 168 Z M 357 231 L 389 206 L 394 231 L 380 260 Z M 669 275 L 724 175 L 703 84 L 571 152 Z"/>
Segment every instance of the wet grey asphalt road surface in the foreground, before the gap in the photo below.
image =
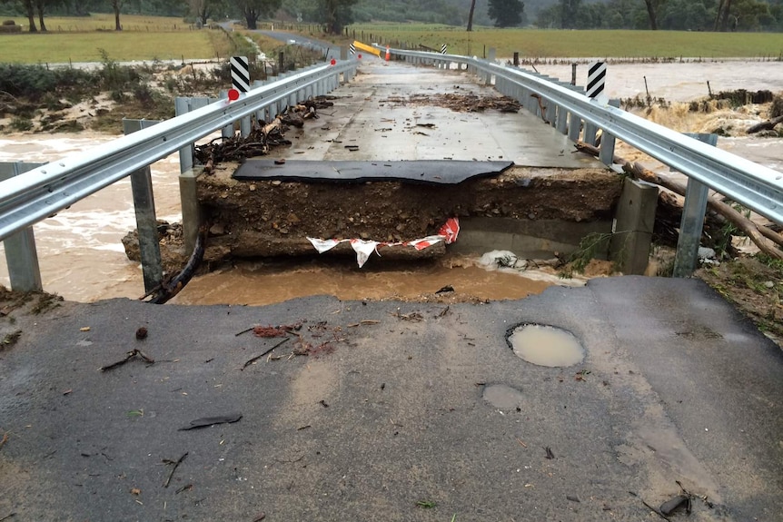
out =
<path fill-rule="evenodd" d="M 692 520 L 783 512 L 783 356 L 701 281 L 11 317 L 0 518 L 653 520 L 644 503 L 677 480 L 713 506 L 695 498 Z M 243 367 L 280 339 L 238 333 L 299 320 Z M 586 358 L 518 358 L 505 336 L 527 322 L 569 330 Z M 136 349 L 154 363 L 98 370 Z M 492 385 L 513 404 L 484 399 Z M 178 431 L 194 419 L 224 423 Z"/>

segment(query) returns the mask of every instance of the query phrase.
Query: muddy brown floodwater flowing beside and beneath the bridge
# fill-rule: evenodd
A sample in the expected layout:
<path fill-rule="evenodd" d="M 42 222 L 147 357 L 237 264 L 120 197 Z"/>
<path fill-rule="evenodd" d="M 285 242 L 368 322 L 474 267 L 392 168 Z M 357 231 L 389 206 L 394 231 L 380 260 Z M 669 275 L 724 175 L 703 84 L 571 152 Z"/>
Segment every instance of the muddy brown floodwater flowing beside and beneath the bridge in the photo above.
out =
<path fill-rule="evenodd" d="M 539 65 L 538 69 L 544 74 L 570 78 L 570 65 Z M 777 90 L 783 84 L 783 63 L 611 65 L 610 95 L 632 97 L 644 93 L 645 76 L 653 96 L 688 101 L 707 94 L 708 80 L 714 91 Z M 694 114 L 669 110 L 650 113 L 649 117 L 681 132 L 710 132 L 720 124 L 758 120 L 758 115 L 753 113 L 729 111 Z M 45 163 L 100 146 L 113 138 L 95 133 L 9 134 L 0 137 L 0 161 Z M 779 139 L 720 138 L 719 147 L 783 172 Z M 628 149 L 624 151 L 632 153 Z M 154 163 L 152 171 L 159 219 L 179 221 L 177 155 Z M 36 224 L 35 241 L 45 290 L 79 301 L 141 295 L 144 292 L 141 269 L 137 263 L 127 260 L 120 241 L 134 227 L 128 179 Z M 0 263 L 0 283 L 9 284 L 5 263 Z M 382 299 L 392 295 L 411 298 L 447 284 L 482 299 L 517 299 L 542 291 L 546 286 L 515 274 L 485 271 L 477 260 L 430 263 L 415 271 L 410 266 L 360 270 L 348 260 L 305 261 L 287 267 L 279 263 L 244 262 L 231 270 L 197 278 L 176 302 L 264 304 L 319 293 L 341 299 Z"/>

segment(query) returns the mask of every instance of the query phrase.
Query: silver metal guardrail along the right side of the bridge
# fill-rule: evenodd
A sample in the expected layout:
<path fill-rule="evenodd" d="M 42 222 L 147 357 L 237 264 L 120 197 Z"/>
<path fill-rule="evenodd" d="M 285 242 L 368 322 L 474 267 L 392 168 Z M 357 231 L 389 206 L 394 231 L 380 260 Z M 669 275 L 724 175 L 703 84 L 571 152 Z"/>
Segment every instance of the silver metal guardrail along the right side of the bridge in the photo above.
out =
<path fill-rule="evenodd" d="M 384 48 L 385 49 L 385 48 Z M 753 163 L 734 154 L 684 134 L 672 131 L 658 123 L 618 108 L 603 105 L 570 86 L 552 82 L 551 79 L 478 58 L 455 54 L 436 54 L 421 51 L 391 49 L 392 55 L 403 56 L 414 63 L 449 67 L 449 64 L 465 65 L 476 74 L 483 75 L 488 83 L 494 79 L 495 88 L 502 94 L 516 98 L 530 107 L 530 94 L 553 103 L 557 107 L 557 122 L 561 133 L 566 133 L 565 113 L 592 124 L 625 143 L 648 153 L 659 162 L 720 192 L 731 200 L 783 224 L 783 173 Z M 535 102 L 538 104 L 538 101 Z M 550 114 L 547 114 L 550 117 Z M 573 121 L 571 126 L 574 126 Z M 573 129 L 571 129 L 573 131 Z M 578 127 L 576 128 L 579 132 Z M 569 133 L 573 140 L 574 134 Z M 578 134 L 576 134 L 578 135 Z M 611 157 L 609 162 L 611 163 Z"/>

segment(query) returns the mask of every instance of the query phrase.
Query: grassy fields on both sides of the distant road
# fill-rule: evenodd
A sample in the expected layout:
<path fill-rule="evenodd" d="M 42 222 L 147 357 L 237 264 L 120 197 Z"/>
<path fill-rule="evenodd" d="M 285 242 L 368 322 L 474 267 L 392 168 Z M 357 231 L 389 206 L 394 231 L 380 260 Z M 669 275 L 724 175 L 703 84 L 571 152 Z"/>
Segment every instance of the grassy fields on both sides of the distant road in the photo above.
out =
<path fill-rule="evenodd" d="M 15 18 L 25 25 L 24 18 Z M 99 61 L 99 49 L 114 60 L 213 58 L 235 52 L 235 42 L 221 31 L 194 30 L 181 18 L 123 15 L 122 32 L 114 31 L 114 16 L 46 19 L 47 34 L 0 34 L 0 60 L 12 63 L 64 63 Z M 268 24 L 267 24 L 268 25 Z M 264 25 L 264 28 L 267 28 Z M 310 29 L 307 29 L 310 27 Z M 606 58 L 728 58 L 783 59 L 783 34 L 697 33 L 678 31 L 555 31 L 424 24 L 370 24 L 349 27 L 350 38 L 309 34 L 313 26 L 299 28 L 308 36 L 340 44 L 357 39 L 382 44 L 420 44 L 449 53 L 483 57 L 494 47 L 498 57 L 519 52 L 523 59 L 560 57 Z M 277 26 L 280 29 L 280 25 Z M 293 27 L 295 28 L 295 26 Z M 262 40 L 257 34 L 254 39 Z M 267 44 L 262 44 L 266 50 Z"/>

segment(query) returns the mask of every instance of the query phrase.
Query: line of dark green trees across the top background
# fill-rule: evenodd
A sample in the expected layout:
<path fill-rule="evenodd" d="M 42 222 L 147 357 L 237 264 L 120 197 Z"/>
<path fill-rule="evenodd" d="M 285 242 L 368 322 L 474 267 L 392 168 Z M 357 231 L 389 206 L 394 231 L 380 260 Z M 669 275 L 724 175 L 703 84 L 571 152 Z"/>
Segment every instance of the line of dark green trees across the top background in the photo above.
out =
<path fill-rule="evenodd" d="M 497 27 L 783 31 L 783 0 L 0 0 L 5 14 L 24 15 L 30 32 L 46 31 L 45 17 L 114 13 L 183 16 L 193 23 L 242 18 L 249 29 L 268 17 L 322 25 L 341 34 L 355 21 L 421 21 Z M 478 9 L 477 9 L 478 5 Z"/>

